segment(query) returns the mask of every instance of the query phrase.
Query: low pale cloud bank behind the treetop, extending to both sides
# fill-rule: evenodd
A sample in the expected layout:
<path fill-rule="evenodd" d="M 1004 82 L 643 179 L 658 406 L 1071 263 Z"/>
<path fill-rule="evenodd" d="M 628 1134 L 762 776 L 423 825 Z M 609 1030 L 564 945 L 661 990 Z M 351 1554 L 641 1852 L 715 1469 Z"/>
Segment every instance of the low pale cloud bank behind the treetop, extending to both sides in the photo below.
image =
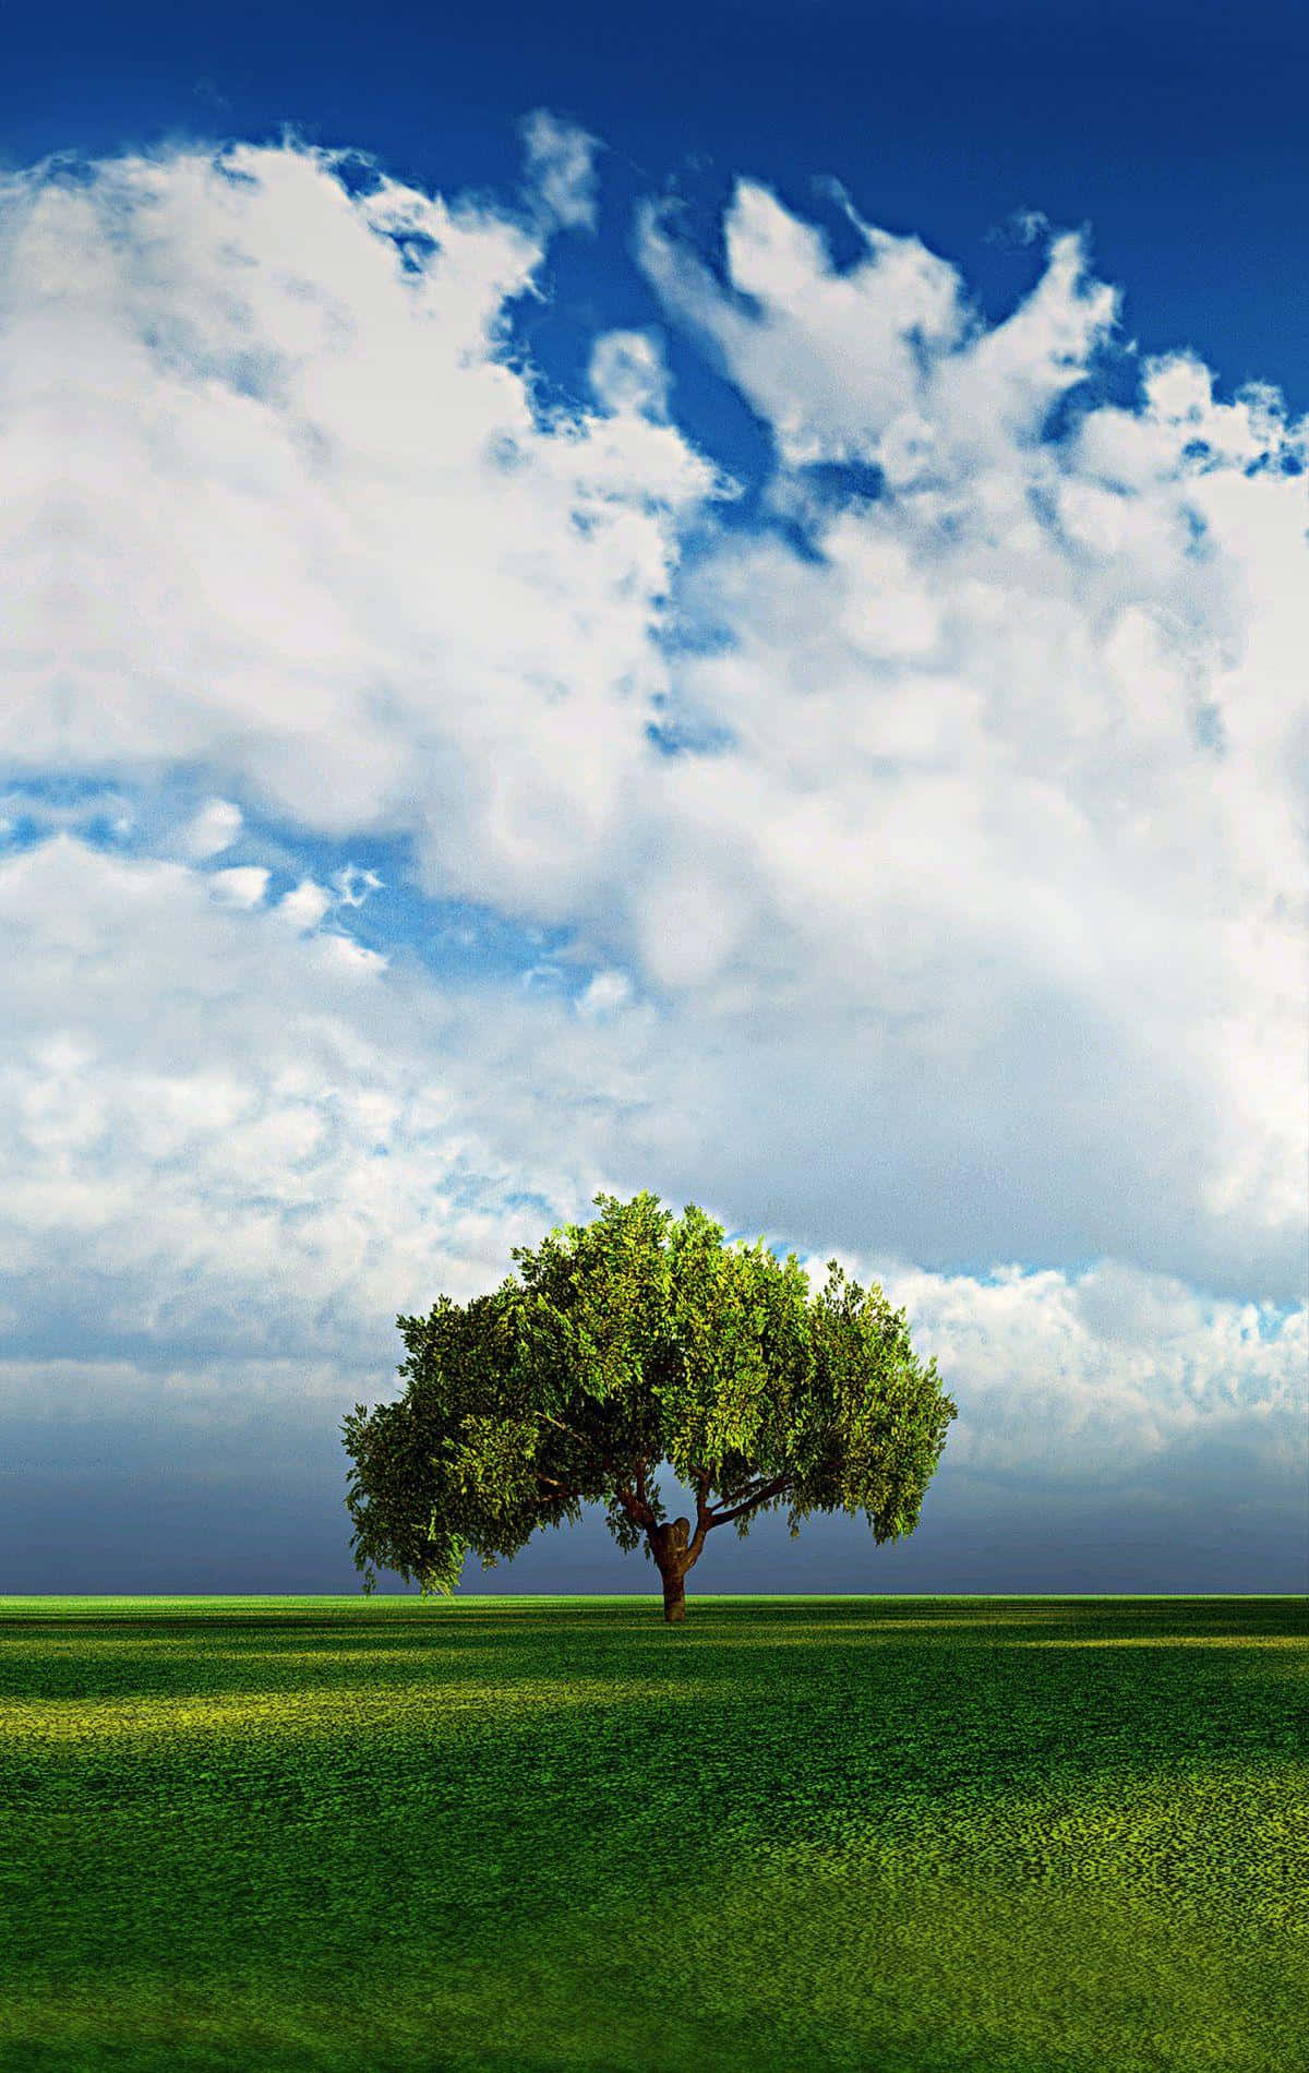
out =
<path fill-rule="evenodd" d="M 207 885 L 70 835 L 0 867 L 0 1408 L 33 1445 L 58 1414 L 153 1455 L 164 1422 L 230 1464 L 255 1422 L 290 1464 L 387 1393 L 398 1310 L 493 1285 L 599 1186 L 675 1167 L 665 1115 L 704 1061 L 669 1055 L 623 974 L 588 989 L 613 1022 L 549 993 L 489 1001 L 340 964 L 342 939 Z M 1226 1453 L 1280 1486 L 1303 1461 L 1303 1308 L 1116 1262 L 990 1281 L 847 1265 L 936 1356 L 953 1470 L 1176 1488 L 1210 1486 Z"/>

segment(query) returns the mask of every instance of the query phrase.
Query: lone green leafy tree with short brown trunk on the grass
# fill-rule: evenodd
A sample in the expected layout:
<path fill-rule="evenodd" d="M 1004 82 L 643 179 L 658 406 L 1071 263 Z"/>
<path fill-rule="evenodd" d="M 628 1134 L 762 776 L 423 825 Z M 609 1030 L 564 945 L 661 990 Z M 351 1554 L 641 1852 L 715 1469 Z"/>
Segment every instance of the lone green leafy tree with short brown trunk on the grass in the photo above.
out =
<path fill-rule="evenodd" d="M 789 1505 L 864 1511 L 878 1546 L 913 1532 L 955 1403 L 876 1283 L 835 1260 L 810 1294 L 791 1254 L 723 1242 L 694 1204 L 597 1194 L 601 1215 L 536 1252 L 514 1250 L 491 1296 L 396 1318 L 404 1395 L 344 1420 L 354 1567 L 454 1592 L 472 1549 L 485 1569 L 539 1526 L 605 1501 L 621 1549 L 644 1536 L 663 1617 L 708 1534 Z M 652 1480 L 671 1461 L 696 1522 L 665 1517 Z"/>

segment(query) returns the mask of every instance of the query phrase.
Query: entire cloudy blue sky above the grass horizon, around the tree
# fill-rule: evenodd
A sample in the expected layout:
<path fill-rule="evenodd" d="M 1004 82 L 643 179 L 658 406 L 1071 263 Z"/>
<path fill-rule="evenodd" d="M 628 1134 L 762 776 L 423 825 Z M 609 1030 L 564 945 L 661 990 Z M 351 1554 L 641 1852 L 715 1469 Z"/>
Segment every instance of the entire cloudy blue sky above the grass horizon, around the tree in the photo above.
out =
<path fill-rule="evenodd" d="M 6 19 L 0 1592 L 358 1588 L 396 1314 L 642 1188 L 959 1403 L 692 1592 L 1309 1588 L 1307 60 Z"/>

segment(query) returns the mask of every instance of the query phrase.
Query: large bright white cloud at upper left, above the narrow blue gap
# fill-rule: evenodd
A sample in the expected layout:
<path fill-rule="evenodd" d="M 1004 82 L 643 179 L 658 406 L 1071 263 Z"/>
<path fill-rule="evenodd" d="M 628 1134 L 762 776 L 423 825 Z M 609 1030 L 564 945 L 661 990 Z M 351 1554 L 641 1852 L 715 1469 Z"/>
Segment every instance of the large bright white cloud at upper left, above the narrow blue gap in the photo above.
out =
<path fill-rule="evenodd" d="M 565 908 L 640 775 L 712 471 L 634 410 L 541 417 L 503 352 L 541 238 L 236 147 L 10 176 L 0 245 L 14 771 L 197 765 L 263 817 L 416 833 L 443 891 Z"/>

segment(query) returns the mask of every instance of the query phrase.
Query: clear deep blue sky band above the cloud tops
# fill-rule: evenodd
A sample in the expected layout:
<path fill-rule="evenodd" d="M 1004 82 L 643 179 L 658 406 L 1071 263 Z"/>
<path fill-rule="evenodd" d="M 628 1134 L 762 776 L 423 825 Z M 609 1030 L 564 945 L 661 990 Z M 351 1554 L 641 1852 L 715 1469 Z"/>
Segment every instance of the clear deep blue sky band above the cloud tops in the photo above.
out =
<path fill-rule="evenodd" d="M 1307 64 L 1305 10 L 1276 0 L 128 6 L 72 8 L 58 29 L 23 8 L 6 21 L 0 153 L 271 141 L 292 124 L 420 184 L 503 193 L 514 120 L 549 106 L 607 145 L 609 236 L 553 265 L 609 321 L 648 317 L 611 263 L 634 195 L 681 191 L 708 216 L 739 172 L 795 203 L 826 174 L 963 263 L 990 315 L 1031 274 L 1000 226 L 1023 209 L 1089 224 L 1143 350 L 1189 344 L 1220 384 L 1276 381 L 1303 410 Z M 580 296 L 559 301 L 539 342 L 574 328 Z"/>

